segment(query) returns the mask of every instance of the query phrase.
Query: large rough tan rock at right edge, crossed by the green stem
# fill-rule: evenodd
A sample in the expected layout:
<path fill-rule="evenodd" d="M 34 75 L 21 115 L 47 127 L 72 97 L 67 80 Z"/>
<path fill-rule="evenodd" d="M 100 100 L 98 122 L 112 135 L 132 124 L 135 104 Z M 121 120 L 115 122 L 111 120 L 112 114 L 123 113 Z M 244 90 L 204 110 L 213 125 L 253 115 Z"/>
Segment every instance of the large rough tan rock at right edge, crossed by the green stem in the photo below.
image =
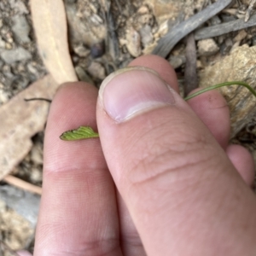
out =
<path fill-rule="evenodd" d="M 230 55 L 225 56 L 200 73 L 200 87 L 208 87 L 228 81 L 245 81 L 255 90 L 256 46 L 242 45 L 237 47 Z M 243 86 L 225 86 L 220 88 L 220 92 L 224 95 L 230 107 L 231 137 L 235 137 L 255 116 L 256 99 Z"/>

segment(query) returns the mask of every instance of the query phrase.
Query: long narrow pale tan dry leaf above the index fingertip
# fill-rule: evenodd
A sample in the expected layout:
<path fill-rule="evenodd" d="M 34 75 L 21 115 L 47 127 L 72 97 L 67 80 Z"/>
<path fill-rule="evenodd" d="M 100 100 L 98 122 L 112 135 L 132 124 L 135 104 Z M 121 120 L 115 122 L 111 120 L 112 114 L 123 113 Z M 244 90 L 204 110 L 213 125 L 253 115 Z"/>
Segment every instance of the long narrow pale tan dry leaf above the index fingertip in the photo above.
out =
<path fill-rule="evenodd" d="M 77 81 L 67 43 L 67 19 L 62 0 L 32 0 L 32 20 L 38 48 L 58 84 Z"/>

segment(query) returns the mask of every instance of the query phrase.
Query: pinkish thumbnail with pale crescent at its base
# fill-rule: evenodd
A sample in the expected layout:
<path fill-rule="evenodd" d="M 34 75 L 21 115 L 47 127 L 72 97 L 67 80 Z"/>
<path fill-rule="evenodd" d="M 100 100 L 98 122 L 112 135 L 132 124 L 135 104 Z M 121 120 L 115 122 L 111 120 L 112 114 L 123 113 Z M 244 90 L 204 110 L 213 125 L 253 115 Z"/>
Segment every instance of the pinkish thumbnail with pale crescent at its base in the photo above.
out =
<path fill-rule="evenodd" d="M 148 67 L 126 67 L 102 82 L 99 100 L 116 122 L 175 104 L 172 89 Z"/>

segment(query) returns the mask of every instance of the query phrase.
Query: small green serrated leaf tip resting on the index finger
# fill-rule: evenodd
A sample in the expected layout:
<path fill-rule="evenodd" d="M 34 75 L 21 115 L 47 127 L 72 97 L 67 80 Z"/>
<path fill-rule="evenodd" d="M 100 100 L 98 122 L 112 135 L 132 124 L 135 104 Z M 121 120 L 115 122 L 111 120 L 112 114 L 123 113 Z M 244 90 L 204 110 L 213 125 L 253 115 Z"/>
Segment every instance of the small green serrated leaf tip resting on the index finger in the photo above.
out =
<path fill-rule="evenodd" d="M 63 141 L 77 141 L 92 137 L 99 137 L 99 134 L 93 131 L 90 126 L 80 126 L 79 129 L 65 131 L 60 136 Z"/>

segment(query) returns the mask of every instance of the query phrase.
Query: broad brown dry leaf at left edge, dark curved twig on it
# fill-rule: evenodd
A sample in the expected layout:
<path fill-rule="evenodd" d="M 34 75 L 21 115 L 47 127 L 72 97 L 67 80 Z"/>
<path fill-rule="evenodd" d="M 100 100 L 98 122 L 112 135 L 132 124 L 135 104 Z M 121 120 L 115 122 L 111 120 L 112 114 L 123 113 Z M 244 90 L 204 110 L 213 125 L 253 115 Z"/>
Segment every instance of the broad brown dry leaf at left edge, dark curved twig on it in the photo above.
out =
<path fill-rule="evenodd" d="M 58 84 L 50 76 L 38 80 L 0 108 L 0 180 L 32 148 L 31 137 L 44 130 L 49 112 L 49 102 L 25 102 L 26 98 L 44 97 L 52 99 Z"/>

